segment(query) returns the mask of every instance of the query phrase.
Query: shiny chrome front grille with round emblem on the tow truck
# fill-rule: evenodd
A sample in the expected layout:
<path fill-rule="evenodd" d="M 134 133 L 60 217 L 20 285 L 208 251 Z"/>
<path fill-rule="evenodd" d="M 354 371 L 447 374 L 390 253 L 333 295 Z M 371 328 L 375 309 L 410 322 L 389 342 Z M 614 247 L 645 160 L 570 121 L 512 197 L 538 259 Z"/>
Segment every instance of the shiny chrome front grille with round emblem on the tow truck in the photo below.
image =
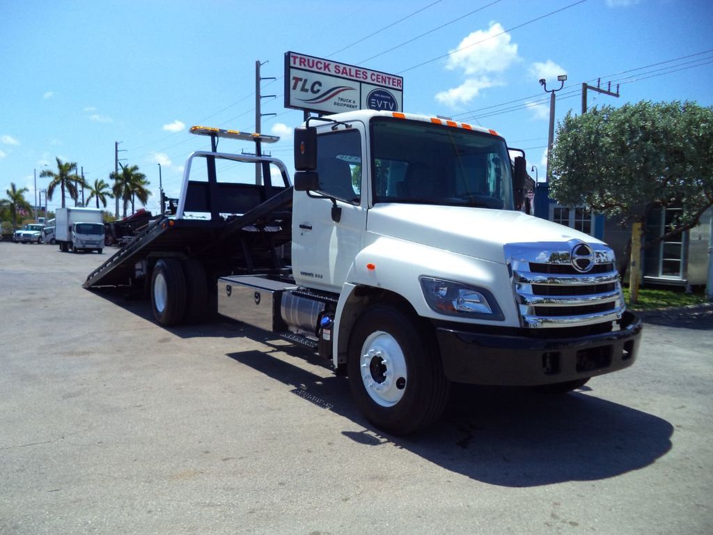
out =
<path fill-rule="evenodd" d="M 575 327 L 618 320 L 625 310 L 614 253 L 603 244 L 587 244 L 593 262 L 575 269 L 567 243 L 506 245 L 513 290 L 523 327 Z M 575 258 L 575 260 L 578 260 Z"/>

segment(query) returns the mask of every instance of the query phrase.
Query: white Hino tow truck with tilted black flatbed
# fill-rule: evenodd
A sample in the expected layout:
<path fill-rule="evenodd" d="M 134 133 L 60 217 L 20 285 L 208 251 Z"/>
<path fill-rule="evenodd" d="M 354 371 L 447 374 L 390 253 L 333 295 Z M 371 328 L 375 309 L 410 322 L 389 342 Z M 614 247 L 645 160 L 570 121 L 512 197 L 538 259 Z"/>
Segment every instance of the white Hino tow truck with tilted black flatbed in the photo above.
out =
<path fill-rule="evenodd" d="M 192 131 L 212 150 L 188 158 L 177 213 L 85 287 L 148 286 L 162 325 L 217 307 L 312 347 L 392 434 L 434 422 L 451 382 L 566 392 L 635 361 L 641 322 L 612 250 L 515 210 L 525 160 L 511 165 L 495 131 L 384 111 L 309 118 L 294 187 L 275 158 L 217 152 L 250 135 Z M 193 180 L 201 159 L 207 179 Z M 217 180 L 216 162 L 260 163 L 265 183 Z"/>

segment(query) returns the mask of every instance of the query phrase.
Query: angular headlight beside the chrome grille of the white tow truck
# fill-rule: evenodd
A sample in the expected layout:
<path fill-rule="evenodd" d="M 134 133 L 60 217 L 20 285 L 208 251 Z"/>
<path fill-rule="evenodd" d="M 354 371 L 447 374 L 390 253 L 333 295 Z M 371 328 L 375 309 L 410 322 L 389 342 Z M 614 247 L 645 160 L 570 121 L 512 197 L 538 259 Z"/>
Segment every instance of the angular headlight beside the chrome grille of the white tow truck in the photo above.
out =
<path fill-rule="evenodd" d="M 419 280 L 429 307 L 440 314 L 505 319 L 495 297 L 485 288 L 432 277 L 420 277 Z"/>

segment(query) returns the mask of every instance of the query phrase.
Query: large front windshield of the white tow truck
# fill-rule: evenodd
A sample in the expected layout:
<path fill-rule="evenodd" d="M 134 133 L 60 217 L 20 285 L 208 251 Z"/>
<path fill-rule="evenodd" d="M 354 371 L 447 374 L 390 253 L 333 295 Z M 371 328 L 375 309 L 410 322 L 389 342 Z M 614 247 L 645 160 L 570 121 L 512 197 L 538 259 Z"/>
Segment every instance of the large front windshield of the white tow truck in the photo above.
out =
<path fill-rule="evenodd" d="M 422 121 L 375 119 L 374 203 L 512 209 L 502 138 Z"/>

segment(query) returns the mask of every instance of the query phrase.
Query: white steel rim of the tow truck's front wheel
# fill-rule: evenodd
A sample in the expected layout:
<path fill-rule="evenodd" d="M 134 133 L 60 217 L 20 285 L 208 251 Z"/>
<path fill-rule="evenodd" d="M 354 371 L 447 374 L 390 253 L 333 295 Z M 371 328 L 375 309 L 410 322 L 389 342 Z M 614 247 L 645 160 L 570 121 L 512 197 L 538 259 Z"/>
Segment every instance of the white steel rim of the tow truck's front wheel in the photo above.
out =
<path fill-rule="evenodd" d="M 381 407 L 393 407 L 406 392 L 406 357 L 388 332 L 376 331 L 361 346 L 361 380 L 369 397 Z"/>

